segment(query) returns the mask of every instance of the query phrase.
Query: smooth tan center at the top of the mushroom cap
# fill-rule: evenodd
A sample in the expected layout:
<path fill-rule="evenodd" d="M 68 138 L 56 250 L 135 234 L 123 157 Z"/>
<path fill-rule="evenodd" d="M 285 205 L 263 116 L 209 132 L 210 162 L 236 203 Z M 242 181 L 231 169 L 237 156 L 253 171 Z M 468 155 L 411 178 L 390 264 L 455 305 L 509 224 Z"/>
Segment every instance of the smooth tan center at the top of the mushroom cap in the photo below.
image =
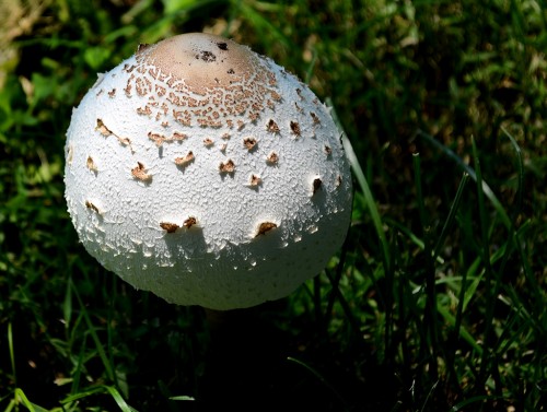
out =
<path fill-rule="evenodd" d="M 191 92 L 198 94 L 205 94 L 207 89 L 245 82 L 255 72 L 257 62 L 249 48 L 201 33 L 160 42 L 146 61 L 184 81 Z"/>

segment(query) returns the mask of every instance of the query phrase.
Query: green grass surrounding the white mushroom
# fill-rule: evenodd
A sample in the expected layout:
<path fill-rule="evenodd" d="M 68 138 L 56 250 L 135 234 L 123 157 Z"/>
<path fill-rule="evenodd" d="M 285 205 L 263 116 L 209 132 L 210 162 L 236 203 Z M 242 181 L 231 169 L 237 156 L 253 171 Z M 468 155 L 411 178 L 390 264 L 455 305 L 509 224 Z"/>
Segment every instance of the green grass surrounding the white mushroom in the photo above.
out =
<path fill-rule="evenodd" d="M 203 314 L 133 291 L 84 252 L 62 170 L 71 109 L 96 72 L 139 43 L 207 30 L 330 102 L 356 181 L 342 249 L 263 310 L 271 346 L 253 352 L 248 387 L 219 401 L 544 411 L 546 10 L 544 0 L 0 3 L 0 410 L 203 410 Z"/>

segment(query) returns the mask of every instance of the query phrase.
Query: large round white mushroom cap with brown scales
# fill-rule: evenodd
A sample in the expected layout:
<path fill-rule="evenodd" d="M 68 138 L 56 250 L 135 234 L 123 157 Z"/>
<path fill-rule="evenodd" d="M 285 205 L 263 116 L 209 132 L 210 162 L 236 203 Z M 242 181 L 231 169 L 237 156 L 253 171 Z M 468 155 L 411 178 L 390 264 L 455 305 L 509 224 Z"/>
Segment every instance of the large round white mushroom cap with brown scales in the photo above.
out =
<path fill-rule="evenodd" d="M 131 285 L 232 309 L 290 294 L 340 247 L 351 176 L 306 85 L 232 40 L 141 46 L 73 110 L 66 199 L 85 249 Z"/>

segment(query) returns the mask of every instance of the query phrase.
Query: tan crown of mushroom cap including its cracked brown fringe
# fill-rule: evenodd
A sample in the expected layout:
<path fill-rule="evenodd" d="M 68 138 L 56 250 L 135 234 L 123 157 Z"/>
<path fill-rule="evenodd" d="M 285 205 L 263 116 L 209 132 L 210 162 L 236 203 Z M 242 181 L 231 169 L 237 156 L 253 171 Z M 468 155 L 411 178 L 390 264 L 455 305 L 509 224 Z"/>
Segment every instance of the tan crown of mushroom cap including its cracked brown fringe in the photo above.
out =
<path fill-rule="evenodd" d="M 242 128 L 281 102 L 267 60 L 223 37 L 184 34 L 139 50 L 136 59 L 126 69 L 125 92 L 148 97 L 138 111 L 156 120 L 165 116 L 152 104 L 159 95 L 179 123 L 212 128 Z"/>

